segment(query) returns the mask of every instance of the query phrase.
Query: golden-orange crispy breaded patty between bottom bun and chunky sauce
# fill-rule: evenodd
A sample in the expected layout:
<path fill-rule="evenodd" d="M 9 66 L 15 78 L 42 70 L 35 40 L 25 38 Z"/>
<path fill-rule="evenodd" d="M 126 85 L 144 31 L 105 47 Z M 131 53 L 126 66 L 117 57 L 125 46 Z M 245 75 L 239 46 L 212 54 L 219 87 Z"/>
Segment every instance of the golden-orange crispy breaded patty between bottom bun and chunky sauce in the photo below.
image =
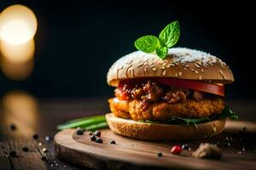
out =
<path fill-rule="evenodd" d="M 184 103 L 170 104 L 165 101 L 145 103 L 141 99 L 119 101 L 108 100 L 110 110 L 115 116 L 133 120 L 166 121 L 172 116 L 207 117 L 220 114 L 224 110 L 224 99 L 220 97 L 204 98 L 200 101 L 187 99 Z"/>

